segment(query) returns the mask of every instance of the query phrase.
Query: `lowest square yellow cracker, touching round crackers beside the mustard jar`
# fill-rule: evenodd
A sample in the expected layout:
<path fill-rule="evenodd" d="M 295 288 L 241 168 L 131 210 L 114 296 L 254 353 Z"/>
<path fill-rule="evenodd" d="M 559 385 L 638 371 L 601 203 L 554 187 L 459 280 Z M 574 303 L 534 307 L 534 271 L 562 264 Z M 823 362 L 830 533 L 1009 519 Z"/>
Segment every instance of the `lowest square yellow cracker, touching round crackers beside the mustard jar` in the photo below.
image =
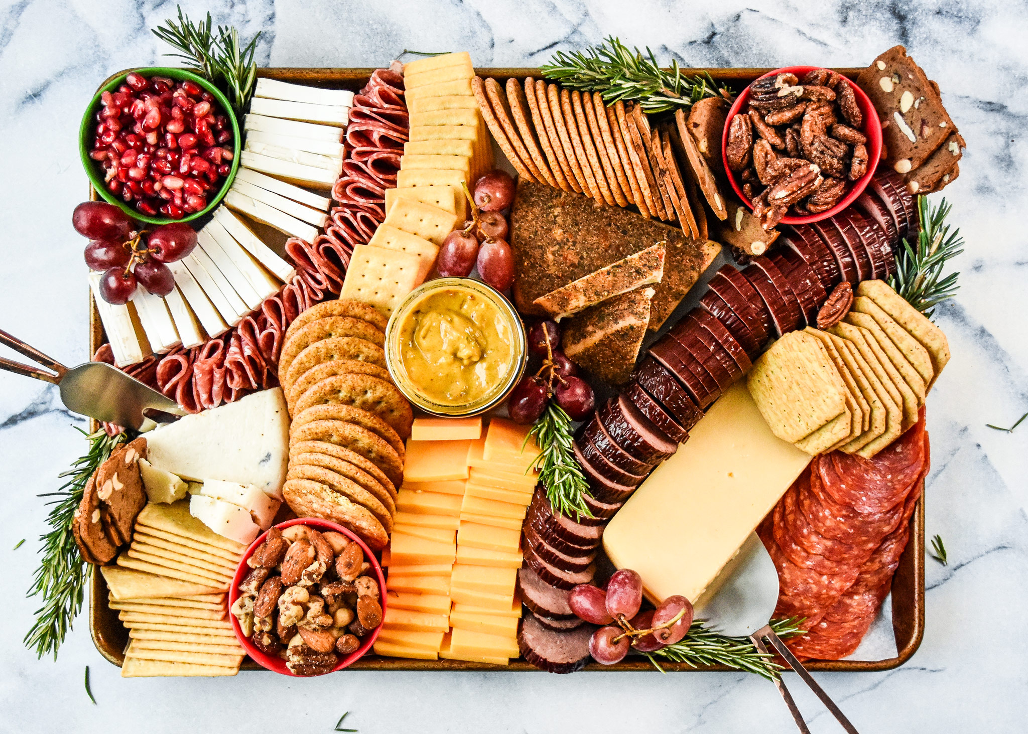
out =
<path fill-rule="evenodd" d="M 340 298 L 356 298 L 387 314 L 417 287 L 421 259 L 417 255 L 364 245 L 354 248 Z"/>

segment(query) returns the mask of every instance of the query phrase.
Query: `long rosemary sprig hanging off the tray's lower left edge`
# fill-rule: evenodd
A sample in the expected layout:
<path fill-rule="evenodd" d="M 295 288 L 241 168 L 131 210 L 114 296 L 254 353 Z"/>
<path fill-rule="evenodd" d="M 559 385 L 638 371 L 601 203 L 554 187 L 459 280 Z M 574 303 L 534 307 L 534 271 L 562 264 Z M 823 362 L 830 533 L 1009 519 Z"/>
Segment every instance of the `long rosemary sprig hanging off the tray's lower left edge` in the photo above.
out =
<path fill-rule="evenodd" d="M 43 541 L 43 557 L 36 568 L 32 587 L 26 594 L 30 597 L 41 596 L 43 605 L 36 610 L 36 621 L 25 635 L 25 646 L 35 650 L 40 658 L 53 653 L 54 660 L 58 658 L 58 648 L 82 609 L 85 589 L 85 562 L 78 552 L 71 530 L 75 509 L 82 502 L 86 480 L 97 467 L 107 461 L 114 447 L 127 438 L 123 433 L 112 437 L 103 430 L 94 434 L 76 430 L 89 442 L 89 450 L 84 456 L 75 460 L 71 469 L 59 475 L 69 479 L 58 491 L 39 496 L 57 499 L 47 503 L 53 505 L 46 517 L 46 523 L 51 529 L 40 537 Z"/>

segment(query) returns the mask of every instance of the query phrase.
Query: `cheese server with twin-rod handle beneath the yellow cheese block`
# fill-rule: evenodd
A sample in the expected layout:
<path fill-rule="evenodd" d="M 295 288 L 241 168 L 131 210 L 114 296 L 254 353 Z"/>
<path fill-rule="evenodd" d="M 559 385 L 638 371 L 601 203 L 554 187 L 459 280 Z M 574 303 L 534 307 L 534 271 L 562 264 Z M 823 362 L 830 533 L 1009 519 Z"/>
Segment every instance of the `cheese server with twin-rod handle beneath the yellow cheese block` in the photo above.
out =
<path fill-rule="evenodd" d="M 756 533 L 750 533 L 746 542 L 732 560 L 725 564 L 718 578 L 696 600 L 696 617 L 702 617 L 719 632 L 733 637 L 749 637 L 754 646 L 768 654 L 765 640 L 785 659 L 790 667 L 813 691 L 849 734 L 858 734 L 835 701 L 817 685 L 803 664 L 790 652 L 771 625 L 768 624 L 778 601 L 778 572 L 768 555 L 764 543 Z M 793 721 L 803 734 L 810 734 L 803 721 L 796 701 L 793 700 L 785 682 L 779 675 L 775 687 L 788 706 Z"/>

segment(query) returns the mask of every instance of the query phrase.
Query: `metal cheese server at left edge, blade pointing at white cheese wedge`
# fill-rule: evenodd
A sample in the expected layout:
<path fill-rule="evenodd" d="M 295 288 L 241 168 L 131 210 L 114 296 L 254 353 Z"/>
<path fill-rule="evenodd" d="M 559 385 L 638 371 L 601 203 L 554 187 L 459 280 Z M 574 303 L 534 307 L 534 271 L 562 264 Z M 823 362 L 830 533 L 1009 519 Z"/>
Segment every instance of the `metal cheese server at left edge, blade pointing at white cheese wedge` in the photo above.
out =
<path fill-rule="evenodd" d="M 73 413 L 134 430 L 148 417 L 144 410 L 185 415 L 178 403 L 105 362 L 86 362 L 71 369 L 0 329 L 0 343 L 38 362 L 52 372 L 0 357 L 0 369 L 52 382 Z M 152 427 L 152 424 L 150 424 Z"/>

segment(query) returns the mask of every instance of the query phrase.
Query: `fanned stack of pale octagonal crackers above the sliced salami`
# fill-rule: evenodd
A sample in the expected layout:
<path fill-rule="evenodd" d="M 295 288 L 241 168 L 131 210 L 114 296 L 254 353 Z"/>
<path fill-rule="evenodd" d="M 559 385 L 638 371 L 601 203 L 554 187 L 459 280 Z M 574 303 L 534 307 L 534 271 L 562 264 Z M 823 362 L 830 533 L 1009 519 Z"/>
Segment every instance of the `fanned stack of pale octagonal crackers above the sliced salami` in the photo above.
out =
<path fill-rule="evenodd" d="M 886 283 L 857 294 L 842 321 L 785 334 L 746 378 L 774 435 L 810 454 L 874 456 L 917 423 L 949 360 L 939 327 Z"/>

